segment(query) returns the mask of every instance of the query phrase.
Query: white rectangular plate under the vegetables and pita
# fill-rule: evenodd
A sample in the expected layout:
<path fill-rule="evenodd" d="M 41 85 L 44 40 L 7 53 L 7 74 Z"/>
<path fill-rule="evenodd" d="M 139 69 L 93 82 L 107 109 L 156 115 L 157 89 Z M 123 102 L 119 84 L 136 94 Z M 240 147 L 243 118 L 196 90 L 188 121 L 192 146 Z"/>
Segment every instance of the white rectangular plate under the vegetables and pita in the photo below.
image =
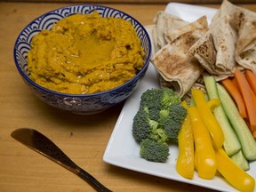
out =
<path fill-rule="evenodd" d="M 194 21 L 203 15 L 206 15 L 208 20 L 212 20 L 212 16 L 216 10 L 196 5 L 171 3 L 166 6 L 165 12 L 170 12 L 183 20 Z M 139 109 L 141 94 L 153 87 L 159 87 L 159 84 L 156 70 L 150 63 L 140 86 L 136 92 L 125 101 L 124 108 L 118 117 L 114 131 L 108 141 L 103 160 L 108 164 L 113 164 L 125 169 L 144 172 L 170 180 L 178 180 L 204 188 L 212 188 L 220 191 L 236 191 L 235 188 L 230 186 L 228 182 L 220 176 L 215 176 L 212 180 L 202 180 L 195 172 L 193 180 L 181 177 L 180 174 L 176 172 L 176 160 L 179 151 L 178 147 L 175 145 L 170 146 L 170 156 L 168 161 L 164 164 L 148 162 L 140 157 L 140 145 L 132 137 L 132 121 L 133 116 L 135 116 Z M 256 162 L 251 163 L 250 166 L 251 169 L 248 173 L 251 174 L 253 178 L 256 178 Z M 256 191 L 256 189 L 254 191 Z"/>

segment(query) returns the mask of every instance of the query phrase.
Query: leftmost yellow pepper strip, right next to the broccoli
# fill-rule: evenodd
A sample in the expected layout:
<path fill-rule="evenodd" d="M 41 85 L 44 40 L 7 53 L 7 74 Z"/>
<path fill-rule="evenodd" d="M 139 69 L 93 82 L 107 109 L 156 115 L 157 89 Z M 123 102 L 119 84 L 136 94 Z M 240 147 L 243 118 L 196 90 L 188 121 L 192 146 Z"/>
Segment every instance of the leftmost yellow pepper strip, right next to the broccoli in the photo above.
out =
<path fill-rule="evenodd" d="M 181 105 L 188 109 L 187 103 Z M 176 162 L 176 171 L 184 178 L 192 179 L 194 176 L 194 137 L 189 116 L 180 128 L 178 135 L 179 156 Z"/>

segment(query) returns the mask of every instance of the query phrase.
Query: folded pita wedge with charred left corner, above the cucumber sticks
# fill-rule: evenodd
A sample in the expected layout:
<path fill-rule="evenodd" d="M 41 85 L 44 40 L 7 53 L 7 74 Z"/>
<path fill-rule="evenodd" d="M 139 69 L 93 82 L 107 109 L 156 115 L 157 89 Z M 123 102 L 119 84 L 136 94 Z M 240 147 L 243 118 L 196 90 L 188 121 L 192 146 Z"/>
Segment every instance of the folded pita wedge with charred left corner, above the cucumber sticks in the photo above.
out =
<path fill-rule="evenodd" d="M 211 25 L 190 52 L 212 75 L 230 76 L 237 68 L 235 60 L 237 32 L 228 17 L 222 16 Z"/>

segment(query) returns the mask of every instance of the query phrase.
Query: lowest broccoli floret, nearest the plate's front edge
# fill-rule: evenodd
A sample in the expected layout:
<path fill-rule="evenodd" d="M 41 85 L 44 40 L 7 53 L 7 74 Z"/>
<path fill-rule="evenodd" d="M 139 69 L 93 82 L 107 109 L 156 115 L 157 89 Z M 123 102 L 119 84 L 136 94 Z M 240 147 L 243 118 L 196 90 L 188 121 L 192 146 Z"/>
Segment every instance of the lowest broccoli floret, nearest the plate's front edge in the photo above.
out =
<path fill-rule="evenodd" d="M 140 142 L 140 156 L 151 162 L 166 162 L 169 156 L 167 143 L 145 139 Z"/>

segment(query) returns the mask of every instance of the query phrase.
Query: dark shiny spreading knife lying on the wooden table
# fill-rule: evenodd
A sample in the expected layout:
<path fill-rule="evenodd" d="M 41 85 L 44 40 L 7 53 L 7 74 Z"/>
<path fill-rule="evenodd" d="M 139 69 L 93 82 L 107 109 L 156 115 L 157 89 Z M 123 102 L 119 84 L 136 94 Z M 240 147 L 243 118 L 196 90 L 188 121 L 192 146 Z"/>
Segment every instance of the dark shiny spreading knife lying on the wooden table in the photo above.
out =
<path fill-rule="evenodd" d="M 96 180 L 88 172 L 85 172 L 82 168 L 77 166 L 63 151 L 60 150 L 52 140 L 49 140 L 42 133 L 37 132 L 33 129 L 20 128 L 12 132 L 12 138 L 20 141 L 28 148 L 36 150 L 43 156 L 50 158 L 53 162 L 60 164 L 61 166 L 68 169 L 70 172 L 74 172 L 83 180 L 86 180 L 92 185 L 97 191 L 110 192 L 108 188 L 103 186 L 98 180 Z"/>

